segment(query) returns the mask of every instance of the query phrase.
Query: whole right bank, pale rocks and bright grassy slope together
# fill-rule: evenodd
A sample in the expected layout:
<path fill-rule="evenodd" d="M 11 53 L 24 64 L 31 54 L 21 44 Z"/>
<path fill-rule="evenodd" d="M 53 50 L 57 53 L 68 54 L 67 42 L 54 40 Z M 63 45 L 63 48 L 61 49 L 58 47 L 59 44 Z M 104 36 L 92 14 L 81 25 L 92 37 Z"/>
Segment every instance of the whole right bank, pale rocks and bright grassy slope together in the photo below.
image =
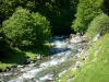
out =
<path fill-rule="evenodd" d="M 75 57 L 75 65 L 56 82 L 109 82 L 109 33 L 98 34 L 88 43 L 86 50 Z"/>

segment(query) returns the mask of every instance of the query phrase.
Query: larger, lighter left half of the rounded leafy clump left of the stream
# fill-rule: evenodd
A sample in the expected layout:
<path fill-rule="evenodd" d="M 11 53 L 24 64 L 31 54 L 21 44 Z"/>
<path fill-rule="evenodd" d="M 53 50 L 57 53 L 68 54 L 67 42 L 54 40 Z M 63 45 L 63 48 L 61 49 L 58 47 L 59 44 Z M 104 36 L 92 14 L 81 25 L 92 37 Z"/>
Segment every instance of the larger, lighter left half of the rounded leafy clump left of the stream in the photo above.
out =
<path fill-rule="evenodd" d="M 31 13 L 27 10 L 19 8 L 13 15 L 3 22 L 3 32 L 5 36 L 12 40 L 14 45 L 29 45 L 32 42 L 31 34 Z M 26 42 L 26 44 L 24 44 Z"/>

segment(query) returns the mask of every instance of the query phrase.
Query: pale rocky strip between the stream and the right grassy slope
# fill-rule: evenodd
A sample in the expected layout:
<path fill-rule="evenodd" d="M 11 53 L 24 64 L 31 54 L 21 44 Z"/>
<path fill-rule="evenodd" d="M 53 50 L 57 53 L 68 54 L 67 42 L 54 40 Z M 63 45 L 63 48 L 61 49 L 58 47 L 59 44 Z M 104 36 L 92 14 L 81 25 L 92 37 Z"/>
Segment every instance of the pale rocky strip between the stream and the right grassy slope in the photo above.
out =
<path fill-rule="evenodd" d="M 73 57 L 75 62 L 72 62 L 72 66 L 68 70 L 59 73 L 56 82 L 72 82 L 88 59 L 87 49 L 89 47 L 89 43 L 87 42 L 85 36 L 73 35 L 73 37 L 71 37 L 70 39 L 70 43 L 76 44 L 78 47 L 78 52 Z"/>

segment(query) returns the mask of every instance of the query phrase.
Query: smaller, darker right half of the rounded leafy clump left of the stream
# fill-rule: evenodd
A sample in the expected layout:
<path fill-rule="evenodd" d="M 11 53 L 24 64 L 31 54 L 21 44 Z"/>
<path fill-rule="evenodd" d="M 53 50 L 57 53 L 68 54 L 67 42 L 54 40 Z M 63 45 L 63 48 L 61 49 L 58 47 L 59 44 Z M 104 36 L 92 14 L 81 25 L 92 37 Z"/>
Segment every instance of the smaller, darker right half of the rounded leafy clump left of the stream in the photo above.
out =
<path fill-rule="evenodd" d="M 39 13 L 32 14 L 33 43 L 40 46 L 50 37 L 50 22 Z"/>

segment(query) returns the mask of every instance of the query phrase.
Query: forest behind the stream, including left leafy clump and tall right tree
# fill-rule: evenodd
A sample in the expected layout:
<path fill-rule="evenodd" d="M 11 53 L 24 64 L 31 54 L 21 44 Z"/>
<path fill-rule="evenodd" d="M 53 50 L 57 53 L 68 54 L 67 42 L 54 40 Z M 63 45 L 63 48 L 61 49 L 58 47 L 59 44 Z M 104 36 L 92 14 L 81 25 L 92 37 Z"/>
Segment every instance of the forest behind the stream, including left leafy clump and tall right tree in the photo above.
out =
<path fill-rule="evenodd" d="M 85 33 L 94 17 L 109 14 L 108 3 L 108 0 L 0 0 L 0 44 L 7 44 L 4 49 L 37 46 L 52 35 Z"/>

